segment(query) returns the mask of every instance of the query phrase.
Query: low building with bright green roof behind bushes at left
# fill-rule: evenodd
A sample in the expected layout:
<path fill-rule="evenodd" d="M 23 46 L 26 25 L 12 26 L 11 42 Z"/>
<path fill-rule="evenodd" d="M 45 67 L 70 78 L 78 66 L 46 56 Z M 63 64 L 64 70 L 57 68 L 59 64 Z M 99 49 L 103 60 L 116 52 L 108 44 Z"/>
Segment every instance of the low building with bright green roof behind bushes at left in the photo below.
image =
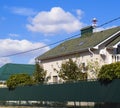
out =
<path fill-rule="evenodd" d="M 7 63 L 0 68 L 0 86 L 6 85 L 6 80 L 13 74 L 26 73 L 30 76 L 35 71 L 35 65 Z"/>

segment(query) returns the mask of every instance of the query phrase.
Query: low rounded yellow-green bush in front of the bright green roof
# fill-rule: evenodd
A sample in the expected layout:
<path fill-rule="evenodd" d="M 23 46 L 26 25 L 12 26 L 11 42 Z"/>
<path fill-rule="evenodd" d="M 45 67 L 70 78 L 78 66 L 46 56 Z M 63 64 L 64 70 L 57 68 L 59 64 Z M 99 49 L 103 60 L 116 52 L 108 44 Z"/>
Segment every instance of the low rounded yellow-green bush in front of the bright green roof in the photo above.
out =
<path fill-rule="evenodd" d="M 33 80 L 28 74 L 14 74 L 7 80 L 7 87 L 14 89 L 16 86 L 32 85 Z"/>

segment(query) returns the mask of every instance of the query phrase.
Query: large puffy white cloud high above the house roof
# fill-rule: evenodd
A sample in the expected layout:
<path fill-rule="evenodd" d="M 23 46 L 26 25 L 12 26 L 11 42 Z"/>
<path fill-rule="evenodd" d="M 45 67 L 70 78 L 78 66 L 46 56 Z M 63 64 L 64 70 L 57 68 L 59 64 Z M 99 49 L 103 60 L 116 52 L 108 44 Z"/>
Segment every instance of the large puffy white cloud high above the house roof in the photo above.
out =
<path fill-rule="evenodd" d="M 78 14 L 80 16 L 80 11 Z M 53 7 L 50 11 L 39 12 L 34 18 L 31 18 L 30 24 L 27 24 L 26 27 L 32 32 L 55 34 L 59 32 L 72 33 L 80 30 L 83 25 L 70 12 L 66 12 L 60 7 Z"/>

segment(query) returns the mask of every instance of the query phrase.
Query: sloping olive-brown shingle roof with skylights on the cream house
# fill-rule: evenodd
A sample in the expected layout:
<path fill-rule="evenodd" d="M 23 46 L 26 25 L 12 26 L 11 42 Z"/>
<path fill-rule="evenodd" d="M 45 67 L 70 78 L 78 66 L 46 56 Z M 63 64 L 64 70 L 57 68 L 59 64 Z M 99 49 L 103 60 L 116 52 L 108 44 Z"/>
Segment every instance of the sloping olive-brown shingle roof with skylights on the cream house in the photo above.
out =
<path fill-rule="evenodd" d="M 39 57 L 37 57 L 37 59 L 44 60 L 67 54 L 74 54 L 75 52 L 77 53 L 84 49 L 93 48 L 94 46 L 98 45 L 103 40 L 109 38 L 111 35 L 115 34 L 118 31 L 120 31 L 120 27 L 95 32 L 88 37 L 81 36 L 75 39 L 67 40 L 56 46 L 55 48 L 47 51 L 43 55 L 40 55 Z"/>

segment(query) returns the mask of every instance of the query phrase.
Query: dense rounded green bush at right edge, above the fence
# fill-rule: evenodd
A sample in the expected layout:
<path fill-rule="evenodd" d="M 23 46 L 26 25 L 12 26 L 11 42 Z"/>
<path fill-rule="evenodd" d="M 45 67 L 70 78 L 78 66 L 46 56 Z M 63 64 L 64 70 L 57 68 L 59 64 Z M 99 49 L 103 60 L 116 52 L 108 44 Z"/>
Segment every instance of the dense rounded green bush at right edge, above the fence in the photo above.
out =
<path fill-rule="evenodd" d="M 120 62 L 103 65 L 98 74 L 98 79 L 111 81 L 120 78 Z"/>

